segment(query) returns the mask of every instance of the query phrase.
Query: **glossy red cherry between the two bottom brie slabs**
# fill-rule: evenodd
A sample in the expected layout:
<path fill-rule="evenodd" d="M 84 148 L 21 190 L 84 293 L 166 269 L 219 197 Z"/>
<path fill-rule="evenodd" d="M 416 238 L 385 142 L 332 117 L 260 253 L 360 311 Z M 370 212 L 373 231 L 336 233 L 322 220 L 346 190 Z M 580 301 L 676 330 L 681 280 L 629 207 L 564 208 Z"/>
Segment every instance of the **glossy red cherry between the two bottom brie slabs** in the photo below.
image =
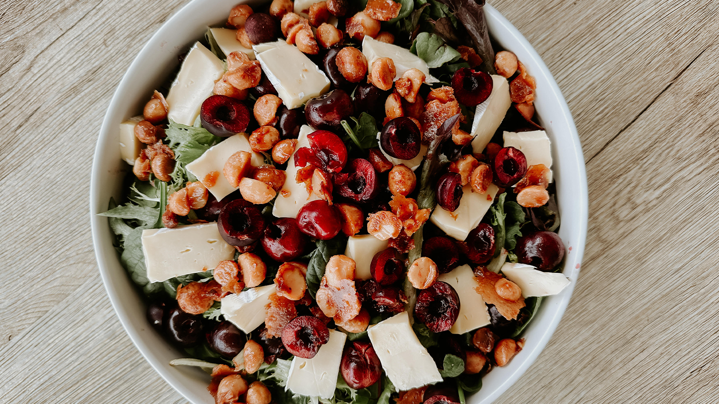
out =
<path fill-rule="evenodd" d="M 380 380 L 382 364 L 369 342 L 350 342 L 342 352 L 339 372 L 349 387 L 362 389 Z"/>

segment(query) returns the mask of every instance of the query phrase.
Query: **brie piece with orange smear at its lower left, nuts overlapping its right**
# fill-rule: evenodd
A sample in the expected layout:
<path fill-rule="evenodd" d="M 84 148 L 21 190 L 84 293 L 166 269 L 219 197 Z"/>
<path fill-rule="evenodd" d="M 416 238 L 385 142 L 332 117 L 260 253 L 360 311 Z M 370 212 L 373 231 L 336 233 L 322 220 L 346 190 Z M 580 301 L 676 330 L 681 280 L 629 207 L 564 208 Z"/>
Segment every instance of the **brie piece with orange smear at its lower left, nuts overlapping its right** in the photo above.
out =
<path fill-rule="evenodd" d="M 248 151 L 252 154 L 252 159 L 249 160 L 249 164 L 252 164 L 252 166 L 258 167 L 265 164 L 265 158 L 262 157 L 262 154 L 252 151 L 249 147 L 247 134 L 237 133 L 205 151 L 202 156 L 186 166 L 187 171 L 191 172 L 200 181 L 211 172 L 219 173 L 214 186 L 208 189 L 215 199 L 221 200 L 236 189 L 227 182 L 222 169 L 224 169 L 227 159 L 238 151 Z"/>

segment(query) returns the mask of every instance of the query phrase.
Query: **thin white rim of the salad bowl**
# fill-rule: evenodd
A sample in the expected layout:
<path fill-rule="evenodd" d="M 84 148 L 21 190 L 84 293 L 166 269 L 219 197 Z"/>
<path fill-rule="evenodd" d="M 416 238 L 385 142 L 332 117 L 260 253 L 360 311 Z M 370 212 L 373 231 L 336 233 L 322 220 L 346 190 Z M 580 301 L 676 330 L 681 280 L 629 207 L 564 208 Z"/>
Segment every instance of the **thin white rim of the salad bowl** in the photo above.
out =
<path fill-rule="evenodd" d="M 113 270 L 109 268 L 109 260 L 119 261 L 119 256 L 116 254 L 114 248 L 112 248 L 112 245 L 106 245 L 106 241 L 102 240 L 103 237 L 100 234 L 102 230 L 101 227 L 103 224 L 102 221 L 106 223 L 107 219 L 105 217 L 100 217 L 96 214 L 99 212 L 104 212 L 104 210 L 106 210 L 104 206 L 106 206 L 107 201 L 100 200 L 101 192 L 99 191 L 101 187 L 101 182 L 104 180 L 104 175 L 106 173 L 102 172 L 100 166 L 101 161 L 104 159 L 103 146 L 108 141 L 111 141 L 109 128 L 111 128 L 111 126 L 113 125 L 118 124 L 118 122 L 114 122 L 112 119 L 112 111 L 119 108 L 120 103 L 122 102 L 122 100 L 120 99 L 121 97 L 119 96 L 122 89 L 127 87 L 128 85 L 131 85 L 130 81 L 132 79 L 132 76 L 136 74 L 135 71 L 139 69 L 140 61 L 145 60 L 148 57 L 152 57 L 153 48 L 160 41 L 161 37 L 165 35 L 165 31 L 168 31 L 168 29 L 170 29 L 169 27 L 173 27 L 181 19 L 183 19 L 183 17 L 187 17 L 187 14 L 192 13 L 193 9 L 196 9 L 196 7 L 198 7 L 199 4 L 203 3 L 203 1 L 206 0 L 189 1 L 188 4 L 181 7 L 178 11 L 175 12 L 175 14 L 173 14 L 169 19 L 167 19 L 167 21 L 165 21 L 162 26 L 157 29 L 157 32 L 155 32 L 152 37 L 150 37 L 150 39 L 147 41 L 147 43 L 142 47 L 142 49 L 139 51 L 132 63 L 129 65 L 127 71 L 124 73 L 122 80 L 120 80 L 113 94 L 106 115 L 104 116 L 102 122 L 99 138 L 97 140 L 96 149 L 93 156 L 91 187 L 89 195 L 89 213 L 91 216 L 90 222 L 92 230 L 93 248 L 95 250 L 101 279 L 104 283 L 104 287 L 109 296 L 113 309 L 119 318 L 120 323 L 122 324 L 123 328 L 125 329 L 125 332 L 127 332 L 128 337 L 132 340 L 135 347 L 137 347 L 142 356 L 145 357 L 145 360 L 150 363 L 152 368 L 155 369 L 155 371 L 166 382 L 168 382 L 170 386 L 172 386 L 176 391 L 178 391 L 178 393 L 183 395 L 184 398 L 190 400 L 192 403 L 198 404 L 201 403 L 201 400 L 199 400 L 199 396 L 196 394 L 197 392 L 194 391 L 191 387 L 184 385 L 183 382 L 178 379 L 177 375 L 173 374 L 173 372 L 170 372 L 167 364 L 160 362 L 156 355 L 157 352 L 152 351 L 150 345 L 140 334 L 140 330 L 134 324 L 132 324 L 131 321 L 129 321 L 128 308 L 123 303 L 122 296 L 120 296 L 119 292 L 116 291 L 116 288 L 111 281 L 111 271 Z M 246 2 L 252 3 L 257 1 Z M 472 404 L 489 404 L 493 402 L 493 400 L 498 398 L 501 394 L 503 394 L 505 390 L 508 390 L 508 388 L 513 385 L 514 382 L 516 382 L 516 380 L 518 380 L 524 372 L 526 372 L 528 367 L 532 365 L 532 363 L 536 360 L 536 358 L 546 346 L 547 342 L 549 342 L 551 335 L 554 334 L 554 331 L 557 329 L 559 321 L 562 319 L 564 311 L 567 308 L 567 304 L 569 304 L 569 299 L 572 295 L 572 291 L 576 284 L 577 277 L 580 273 L 580 263 L 585 248 L 588 216 L 587 176 L 584 157 L 582 154 L 582 147 L 580 145 L 580 138 L 577 134 L 577 128 L 576 126 L 574 126 L 572 114 L 569 112 L 569 107 L 566 100 L 564 100 L 564 97 L 562 96 L 561 90 L 559 90 L 559 86 L 554 80 L 554 77 L 549 72 L 549 69 L 544 64 L 544 61 L 542 61 L 541 57 L 539 57 L 539 54 L 537 54 L 536 50 L 534 50 L 531 44 L 529 44 L 527 39 L 523 37 L 523 35 L 518 31 L 518 29 L 516 29 L 516 27 L 513 27 L 513 25 L 507 19 L 505 19 L 502 14 L 499 13 L 499 11 L 494 9 L 489 4 L 485 4 L 485 11 L 487 12 L 487 25 L 490 29 L 490 32 L 495 32 L 497 29 L 508 32 L 513 37 L 512 39 L 516 41 L 518 45 L 523 47 L 523 55 L 521 57 L 521 60 L 525 62 L 525 65 L 532 65 L 531 73 L 535 76 L 543 75 L 547 79 L 546 84 L 548 85 L 548 87 L 542 88 L 543 96 L 551 96 L 551 98 L 554 99 L 551 101 L 551 104 L 554 105 L 554 107 L 559 108 L 558 112 L 562 117 L 561 124 L 564 126 L 564 136 L 562 137 L 562 141 L 565 142 L 565 144 L 571 146 L 571 149 L 574 151 L 574 154 L 572 155 L 574 161 L 570 161 L 570 163 L 572 166 L 574 166 L 575 169 L 577 169 L 578 178 L 577 183 L 574 184 L 576 186 L 574 190 L 577 194 L 574 195 L 574 197 L 577 198 L 578 213 L 576 214 L 575 220 L 572 222 L 572 225 L 576 227 L 574 229 L 574 233 L 577 235 L 577 237 L 572 243 L 573 250 L 571 250 L 571 256 L 565 255 L 567 258 L 565 258 L 565 266 L 563 271 L 564 275 L 570 278 L 572 282 L 569 283 L 569 286 L 567 286 L 567 288 L 565 288 L 565 290 L 562 291 L 560 295 L 552 296 L 554 298 L 554 301 L 551 305 L 552 307 L 550 316 L 545 324 L 546 327 L 544 327 L 543 331 L 539 335 L 539 339 L 533 341 L 531 347 L 523 349 L 523 351 L 521 352 L 523 360 L 521 362 L 518 362 L 518 365 L 513 366 L 510 372 L 508 372 L 508 377 L 505 377 L 503 381 L 500 382 L 498 385 L 494 385 L 491 389 L 488 389 L 487 387 L 482 387 L 479 392 L 474 393 L 472 396 L 470 396 L 470 398 L 467 399 L 467 403 L 471 402 Z M 531 59 L 531 63 L 527 62 L 527 57 Z M 546 95 L 544 94 L 544 92 L 547 92 Z M 553 123 L 553 125 L 557 124 L 559 123 Z M 560 207 L 560 210 L 561 209 L 562 208 Z M 564 225 L 566 225 L 566 222 L 563 223 L 563 226 Z M 567 243 L 566 240 L 565 243 Z M 129 276 L 127 274 L 127 271 L 124 272 L 125 276 Z M 542 309 L 544 309 L 544 305 Z M 533 327 L 536 324 L 538 323 L 536 321 L 533 321 L 533 324 L 531 324 L 529 327 Z"/>

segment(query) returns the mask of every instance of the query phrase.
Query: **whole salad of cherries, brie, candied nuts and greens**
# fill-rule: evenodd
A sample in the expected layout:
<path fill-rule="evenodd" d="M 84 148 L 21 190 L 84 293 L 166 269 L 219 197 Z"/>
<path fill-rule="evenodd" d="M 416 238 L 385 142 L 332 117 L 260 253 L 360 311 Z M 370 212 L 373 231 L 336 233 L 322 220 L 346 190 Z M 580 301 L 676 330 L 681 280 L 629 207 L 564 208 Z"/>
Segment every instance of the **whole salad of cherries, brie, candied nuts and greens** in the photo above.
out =
<path fill-rule="evenodd" d="M 239 4 L 120 124 L 101 215 L 216 403 L 464 404 L 567 286 L 536 83 L 482 4 Z"/>

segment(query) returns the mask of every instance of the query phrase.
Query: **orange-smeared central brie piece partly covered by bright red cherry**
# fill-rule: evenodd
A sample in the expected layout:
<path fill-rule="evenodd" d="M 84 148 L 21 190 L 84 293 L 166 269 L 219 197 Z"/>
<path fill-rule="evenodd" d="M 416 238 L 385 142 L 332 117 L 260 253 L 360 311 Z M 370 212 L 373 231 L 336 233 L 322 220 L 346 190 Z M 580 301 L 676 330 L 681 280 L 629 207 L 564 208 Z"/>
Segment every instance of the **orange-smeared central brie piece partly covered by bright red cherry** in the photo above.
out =
<path fill-rule="evenodd" d="M 310 146 L 307 135 L 313 131 L 314 129 L 307 125 L 303 125 L 300 128 L 300 136 L 297 138 L 295 152 L 301 147 Z M 314 192 L 308 194 L 305 184 L 298 184 L 296 182 L 297 169 L 295 166 L 295 155 L 293 154 L 287 161 L 285 184 L 283 184 L 282 189 L 278 192 L 275 205 L 272 208 L 272 214 L 275 215 L 275 217 L 297 217 L 300 209 L 307 202 L 319 199 Z"/>

